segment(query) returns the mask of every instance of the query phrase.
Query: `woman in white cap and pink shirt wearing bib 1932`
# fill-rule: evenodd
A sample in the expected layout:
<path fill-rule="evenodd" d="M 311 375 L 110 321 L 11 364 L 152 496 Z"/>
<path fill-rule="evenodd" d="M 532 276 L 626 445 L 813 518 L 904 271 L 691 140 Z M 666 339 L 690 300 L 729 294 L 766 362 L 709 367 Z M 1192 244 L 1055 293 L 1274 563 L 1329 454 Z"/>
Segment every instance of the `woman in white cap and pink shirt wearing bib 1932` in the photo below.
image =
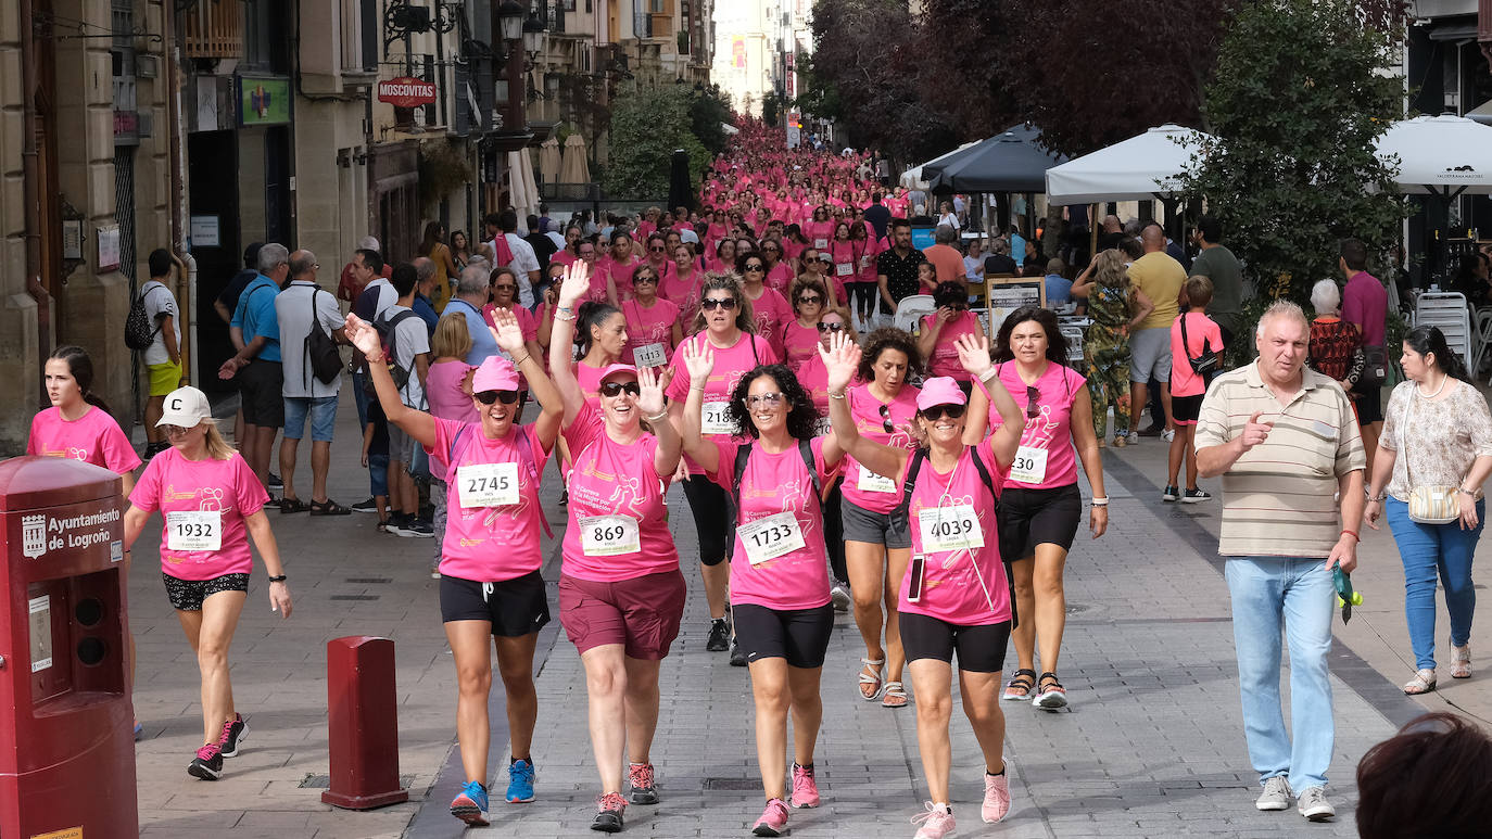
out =
<path fill-rule="evenodd" d="M 172 446 L 151 458 L 130 492 L 124 548 L 130 550 L 151 513 L 160 510 L 161 580 L 201 674 L 203 745 L 186 773 L 216 781 L 222 776 L 222 759 L 239 756 L 239 741 L 248 730 L 233 705 L 228 647 L 249 598 L 254 571 L 249 538 L 269 572 L 270 610 L 288 618 L 292 604 L 279 547 L 264 516 L 270 496 L 218 434 L 206 393 L 178 387 L 166 396 L 164 408 L 155 425 L 166 431 Z"/>

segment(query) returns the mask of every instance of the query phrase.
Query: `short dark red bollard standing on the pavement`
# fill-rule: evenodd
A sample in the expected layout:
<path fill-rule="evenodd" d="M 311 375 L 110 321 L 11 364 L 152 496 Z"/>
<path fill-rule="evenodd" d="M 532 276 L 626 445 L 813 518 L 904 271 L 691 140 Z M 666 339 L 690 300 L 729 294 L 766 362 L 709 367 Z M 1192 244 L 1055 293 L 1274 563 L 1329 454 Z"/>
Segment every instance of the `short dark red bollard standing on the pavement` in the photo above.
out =
<path fill-rule="evenodd" d="M 321 802 L 373 809 L 409 800 L 398 785 L 394 641 L 372 635 L 327 642 L 331 788 Z"/>

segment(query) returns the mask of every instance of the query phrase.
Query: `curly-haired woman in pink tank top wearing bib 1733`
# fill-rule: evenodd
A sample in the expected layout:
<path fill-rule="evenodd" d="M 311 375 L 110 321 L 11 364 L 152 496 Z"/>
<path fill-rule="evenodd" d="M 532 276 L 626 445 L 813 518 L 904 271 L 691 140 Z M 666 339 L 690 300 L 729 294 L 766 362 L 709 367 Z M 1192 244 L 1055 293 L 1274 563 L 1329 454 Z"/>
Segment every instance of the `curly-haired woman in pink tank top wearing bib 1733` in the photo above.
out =
<path fill-rule="evenodd" d="M 736 513 L 731 612 L 750 671 L 756 762 L 767 797 L 753 833 L 782 836 L 788 824 L 783 776 L 789 712 L 792 806 L 819 805 L 813 778 L 813 748 L 824 717 L 819 677 L 834 627 L 822 496 L 843 452 L 833 435 L 813 437 L 818 411 L 780 364 L 756 367 L 736 383 L 725 420 L 730 438 L 704 437 L 704 393 L 718 353 L 685 344 L 680 355 L 689 371 L 682 414 L 685 450 L 730 490 Z"/>

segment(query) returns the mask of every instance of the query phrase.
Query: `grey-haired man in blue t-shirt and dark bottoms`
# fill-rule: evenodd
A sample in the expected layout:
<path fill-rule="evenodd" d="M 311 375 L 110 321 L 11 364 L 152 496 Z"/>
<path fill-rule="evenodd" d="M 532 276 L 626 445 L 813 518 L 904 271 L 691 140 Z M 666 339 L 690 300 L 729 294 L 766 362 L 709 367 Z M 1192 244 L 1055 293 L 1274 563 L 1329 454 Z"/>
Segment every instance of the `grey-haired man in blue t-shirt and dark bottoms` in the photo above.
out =
<path fill-rule="evenodd" d="M 275 432 L 285 423 L 285 374 L 280 368 L 279 319 L 275 298 L 289 279 L 289 250 L 269 243 L 260 247 L 260 276 L 239 295 L 230 331 L 237 331 L 234 346 L 240 349 L 218 368 L 218 379 L 239 383 L 243 405 L 243 440 L 239 449 L 260 483 L 269 487 L 270 449 Z M 272 504 L 278 504 L 273 498 Z"/>

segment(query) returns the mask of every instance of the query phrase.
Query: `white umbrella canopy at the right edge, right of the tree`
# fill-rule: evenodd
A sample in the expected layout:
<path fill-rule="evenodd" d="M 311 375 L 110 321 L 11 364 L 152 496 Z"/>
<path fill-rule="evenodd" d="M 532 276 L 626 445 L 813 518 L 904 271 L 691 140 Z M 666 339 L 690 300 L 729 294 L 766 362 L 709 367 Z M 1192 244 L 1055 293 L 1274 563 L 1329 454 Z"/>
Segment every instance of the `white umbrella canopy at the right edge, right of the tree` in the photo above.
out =
<path fill-rule="evenodd" d="M 1376 153 L 1389 165 L 1398 156 L 1394 180 L 1410 194 L 1492 194 L 1492 127 L 1473 119 L 1443 113 L 1395 122 Z"/>

